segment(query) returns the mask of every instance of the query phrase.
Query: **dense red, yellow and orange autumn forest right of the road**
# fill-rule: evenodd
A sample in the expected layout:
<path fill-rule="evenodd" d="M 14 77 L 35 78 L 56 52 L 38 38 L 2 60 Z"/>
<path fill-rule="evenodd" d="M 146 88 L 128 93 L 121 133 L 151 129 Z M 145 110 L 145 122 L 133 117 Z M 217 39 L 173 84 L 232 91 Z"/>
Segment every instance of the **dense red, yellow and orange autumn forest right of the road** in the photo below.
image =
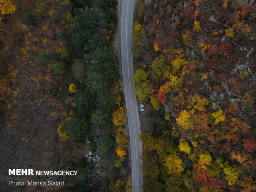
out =
<path fill-rule="evenodd" d="M 253 0 L 138 0 L 144 192 L 256 191 Z"/>

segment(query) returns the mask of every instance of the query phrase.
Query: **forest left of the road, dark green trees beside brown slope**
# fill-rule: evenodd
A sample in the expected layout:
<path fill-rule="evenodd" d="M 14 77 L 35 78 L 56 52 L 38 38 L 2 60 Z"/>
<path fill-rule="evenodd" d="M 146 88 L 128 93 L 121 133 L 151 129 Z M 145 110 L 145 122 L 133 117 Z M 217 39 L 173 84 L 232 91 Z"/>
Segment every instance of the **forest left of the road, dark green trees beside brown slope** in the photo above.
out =
<path fill-rule="evenodd" d="M 116 12 L 116 0 L 0 0 L 1 172 L 78 171 L 46 178 L 63 188 L 10 188 L 3 174 L 2 190 L 131 191 Z"/>

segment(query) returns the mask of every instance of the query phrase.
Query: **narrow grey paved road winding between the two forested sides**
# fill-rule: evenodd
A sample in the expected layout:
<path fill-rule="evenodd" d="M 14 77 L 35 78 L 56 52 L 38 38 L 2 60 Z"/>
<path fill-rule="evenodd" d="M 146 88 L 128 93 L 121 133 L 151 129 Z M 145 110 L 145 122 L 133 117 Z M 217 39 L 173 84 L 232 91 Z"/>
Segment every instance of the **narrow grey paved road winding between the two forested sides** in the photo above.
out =
<path fill-rule="evenodd" d="M 142 142 L 139 140 L 140 119 L 137 107 L 137 100 L 134 95 L 133 85 L 133 11 L 135 0 L 123 0 L 121 12 L 121 57 L 123 86 L 126 100 L 127 118 L 130 135 L 130 150 L 132 159 L 132 188 L 133 192 L 142 192 L 143 175 L 140 170 L 140 159 L 142 153 Z"/>

